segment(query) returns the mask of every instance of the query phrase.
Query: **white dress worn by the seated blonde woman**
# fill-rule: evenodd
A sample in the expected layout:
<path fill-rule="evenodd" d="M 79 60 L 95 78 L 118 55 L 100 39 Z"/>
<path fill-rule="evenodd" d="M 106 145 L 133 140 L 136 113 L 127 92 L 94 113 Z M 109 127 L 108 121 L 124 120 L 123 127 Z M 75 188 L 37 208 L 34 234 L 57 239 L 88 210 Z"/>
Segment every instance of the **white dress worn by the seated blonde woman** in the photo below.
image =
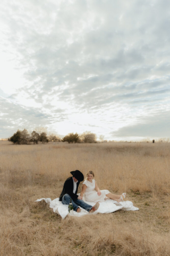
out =
<path fill-rule="evenodd" d="M 86 191 L 84 193 L 84 199 L 88 202 L 105 202 L 105 197 L 108 193 L 108 190 L 100 190 L 101 195 L 98 196 L 97 191 L 95 189 L 95 180 L 92 179 L 92 182 L 88 180 L 84 180 L 83 184 L 87 186 Z"/>

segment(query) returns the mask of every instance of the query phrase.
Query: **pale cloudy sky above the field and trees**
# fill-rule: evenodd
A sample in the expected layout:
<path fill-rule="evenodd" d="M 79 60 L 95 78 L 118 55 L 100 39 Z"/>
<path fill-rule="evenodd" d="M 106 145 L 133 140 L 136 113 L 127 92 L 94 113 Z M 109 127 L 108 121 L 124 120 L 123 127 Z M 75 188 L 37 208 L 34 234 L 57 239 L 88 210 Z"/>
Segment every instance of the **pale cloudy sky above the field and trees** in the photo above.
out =
<path fill-rule="evenodd" d="M 170 137 L 169 0 L 2 0 L 0 138 Z"/>

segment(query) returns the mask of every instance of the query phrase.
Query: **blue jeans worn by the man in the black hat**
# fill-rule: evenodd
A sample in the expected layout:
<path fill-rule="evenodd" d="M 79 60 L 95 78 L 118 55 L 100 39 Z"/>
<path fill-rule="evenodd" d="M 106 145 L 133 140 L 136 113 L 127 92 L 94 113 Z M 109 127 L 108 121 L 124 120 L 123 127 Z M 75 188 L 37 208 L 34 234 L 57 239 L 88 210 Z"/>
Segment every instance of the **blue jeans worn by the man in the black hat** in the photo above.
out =
<path fill-rule="evenodd" d="M 62 204 L 70 204 L 70 198 L 71 198 L 71 196 L 69 196 L 68 194 L 65 194 L 64 196 L 63 196 L 63 199 L 62 199 Z M 71 199 L 71 201 L 72 201 L 72 204 L 73 204 L 73 210 L 74 211 L 77 211 L 77 209 L 79 208 L 79 206 L 80 207 L 82 207 L 83 209 L 85 209 L 86 211 L 90 211 L 91 210 L 91 208 L 92 208 L 92 206 L 91 205 L 89 205 L 89 204 L 86 204 L 86 203 L 84 203 L 84 201 L 83 200 L 80 200 L 80 199 Z"/>

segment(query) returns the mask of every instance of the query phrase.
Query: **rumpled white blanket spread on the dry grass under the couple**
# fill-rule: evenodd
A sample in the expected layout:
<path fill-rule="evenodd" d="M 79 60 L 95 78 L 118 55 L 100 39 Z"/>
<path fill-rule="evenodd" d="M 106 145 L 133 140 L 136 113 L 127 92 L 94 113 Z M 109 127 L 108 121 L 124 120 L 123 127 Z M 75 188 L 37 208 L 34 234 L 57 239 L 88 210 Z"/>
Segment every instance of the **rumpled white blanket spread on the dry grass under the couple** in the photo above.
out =
<path fill-rule="evenodd" d="M 82 209 L 81 207 L 80 207 L 80 209 L 82 209 L 81 212 L 78 213 L 78 212 L 71 210 L 69 213 L 68 205 L 62 204 L 62 202 L 59 201 L 59 198 L 56 198 L 53 201 L 50 198 L 41 198 L 41 199 L 37 199 L 35 202 L 40 202 L 43 200 L 49 205 L 50 208 L 53 209 L 54 213 L 61 215 L 62 219 L 64 219 L 67 214 L 72 215 L 72 216 L 74 215 L 76 217 L 82 217 L 87 214 L 111 213 L 111 212 L 115 212 L 120 209 L 124 210 L 124 211 L 139 210 L 139 208 L 133 206 L 133 203 L 131 201 L 122 201 L 120 203 L 117 203 L 116 201 L 107 198 L 105 202 L 99 203 L 100 206 L 99 206 L 98 210 L 95 211 L 94 213 L 89 213 L 88 211 Z M 87 202 L 87 201 L 84 201 L 84 202 L 87 204 L 90 204 L 92 206 L 95 205 L 95 203 L 92 203 L 92 202 Z"/>

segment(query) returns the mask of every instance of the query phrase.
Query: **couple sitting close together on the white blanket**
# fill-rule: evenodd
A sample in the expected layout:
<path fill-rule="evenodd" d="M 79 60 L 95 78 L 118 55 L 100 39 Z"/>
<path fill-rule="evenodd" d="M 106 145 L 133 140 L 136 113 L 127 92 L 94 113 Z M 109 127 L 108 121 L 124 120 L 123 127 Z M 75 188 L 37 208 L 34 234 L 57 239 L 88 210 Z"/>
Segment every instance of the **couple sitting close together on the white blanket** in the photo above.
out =
<path fill-rule="evenodd" d="M 84 176 L 79 170 L 72 171 L 70 173 L 73 175 L 73 177 L 66 179 L 66 181 L 64 182 L 63 191 L 60 195 L 60 201 L 62 201 L 63 204 L 69 205 L 70 199 L 72 199 L 73 210 L 76 212 L 81 212 L 80 207 L 82 207 L 89 213 L 92 213 L 98 209 L 99 202 L 105 201 L 105 197 L 111 198 L 119 203 L 126 196 L 125 193 L 123 193 L 122 195 L 114 195 L 110 193 L 108 190 L 100 190 L 94 179 L 94 172 L 92 171 L 89 171 L 87 173 L 87 178 L 83 182 L 81 194 L 80 196 L 78 196 L 78 187 L 80 182 L 83 181 Z M 94 191 L 94 189 L 96 191 Z M 86 201 L 95 202 L 96 204 L 94 206 L 91 206 L 85 203 L 82 200 L 83 195 Z"/>

